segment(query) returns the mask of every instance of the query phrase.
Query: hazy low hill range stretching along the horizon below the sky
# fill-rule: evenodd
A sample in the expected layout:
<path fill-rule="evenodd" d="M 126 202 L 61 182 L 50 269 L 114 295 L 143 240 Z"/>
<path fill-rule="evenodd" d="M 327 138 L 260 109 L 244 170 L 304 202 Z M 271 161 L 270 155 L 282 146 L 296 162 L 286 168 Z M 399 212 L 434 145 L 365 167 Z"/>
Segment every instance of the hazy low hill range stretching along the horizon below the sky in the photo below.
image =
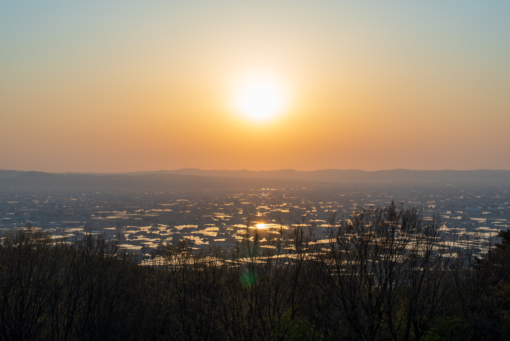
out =
<path fill-rule="evenodd" d="M 244 188 L 288 188 L 327 183 L 413 183 L 413 184 L 491 184 L 508 185 L 510 171 L 477 169 L 475 171 L 360 171 L 358 169 L 324 169 L 321 171 L 205 171 L 183 168 L 174 171 L 132 173 L 44 173 L 4 171 L 0 169 L 0 189 L 102 190 L 203 190 Z"/>

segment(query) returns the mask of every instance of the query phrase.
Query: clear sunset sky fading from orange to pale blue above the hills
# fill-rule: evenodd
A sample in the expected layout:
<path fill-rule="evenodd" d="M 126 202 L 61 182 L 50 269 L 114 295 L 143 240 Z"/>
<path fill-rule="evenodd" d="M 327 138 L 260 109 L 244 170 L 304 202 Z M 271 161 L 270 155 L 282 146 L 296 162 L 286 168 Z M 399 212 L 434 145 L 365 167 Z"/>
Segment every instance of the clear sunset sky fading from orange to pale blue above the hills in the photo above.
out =
<path fill-rule="evenodd" d="M 2 1 L 0 169 L 510 169 L 509 36 L 508 1 Z"/>

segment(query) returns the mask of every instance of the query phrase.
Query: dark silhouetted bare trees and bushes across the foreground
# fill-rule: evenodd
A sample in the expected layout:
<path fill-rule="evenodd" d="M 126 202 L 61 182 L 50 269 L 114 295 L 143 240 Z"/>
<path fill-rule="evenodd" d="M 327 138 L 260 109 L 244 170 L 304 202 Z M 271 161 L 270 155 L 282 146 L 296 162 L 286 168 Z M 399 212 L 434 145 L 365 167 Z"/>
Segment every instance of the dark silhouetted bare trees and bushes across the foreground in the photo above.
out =
<path fill-rule="evenodd" d="M 452 249 L 438 216 L 393 203 L 273 231 L 236 249 L 187 240 L 132 254 L 31 224 L 0 246 L 2 340 L 508 339 L 510 230 Z"/>

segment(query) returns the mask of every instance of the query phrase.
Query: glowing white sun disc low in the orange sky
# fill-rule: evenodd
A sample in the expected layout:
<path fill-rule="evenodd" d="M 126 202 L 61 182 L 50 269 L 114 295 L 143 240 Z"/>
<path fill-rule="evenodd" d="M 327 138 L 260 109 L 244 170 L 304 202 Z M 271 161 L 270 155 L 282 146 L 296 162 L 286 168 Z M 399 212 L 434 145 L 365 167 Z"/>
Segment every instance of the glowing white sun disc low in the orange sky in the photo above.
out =
<path fill-rule="evenodd" d="M 236 111 L 256 121 L 266 121 L 285 109 L 285 86 L 277 77 L 251 74 L 236 85 Z"/>

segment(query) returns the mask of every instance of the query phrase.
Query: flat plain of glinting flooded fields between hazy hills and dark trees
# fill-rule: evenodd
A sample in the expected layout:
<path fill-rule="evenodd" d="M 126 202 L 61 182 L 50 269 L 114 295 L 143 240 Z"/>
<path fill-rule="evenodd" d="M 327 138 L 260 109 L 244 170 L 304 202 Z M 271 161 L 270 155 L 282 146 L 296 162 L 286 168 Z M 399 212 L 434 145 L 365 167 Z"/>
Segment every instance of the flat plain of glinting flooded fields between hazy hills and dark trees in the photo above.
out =
<path fill-rule="evenodd" d="M 11 189 L 0 193 L 0 233 L 32 222 L 54 238 L 84 232 L 118 236 L 131 250 L 183 238 L 192 240 L 197 250 L 232 250 L 246 233 L 249 214 L 262 228 L 315 222 L 317 236 L 327 238 L 327 219 L 333 212 L 348 218 L 356 206 L 386 206 L 391 201 L 422 209 L 426 219 L 438 214 L 443 230 L 458 239 L 489 241 L 497 231 L 510 228 L 506 186 L 335 184 L 174 192 Z"/>

